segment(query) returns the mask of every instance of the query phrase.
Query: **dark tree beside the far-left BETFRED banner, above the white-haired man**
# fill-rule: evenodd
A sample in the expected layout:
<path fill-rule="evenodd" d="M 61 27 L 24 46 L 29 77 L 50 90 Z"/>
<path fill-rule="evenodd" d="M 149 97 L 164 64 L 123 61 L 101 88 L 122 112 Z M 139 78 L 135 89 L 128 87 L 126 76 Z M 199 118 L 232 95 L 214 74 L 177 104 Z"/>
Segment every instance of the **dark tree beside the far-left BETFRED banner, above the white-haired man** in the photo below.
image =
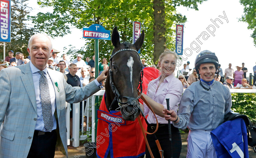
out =
<path fill-rule="evenodd" d="M 5 56 L 8 56 L 8 51 L 13 50 L 14 53 L 22 52 L 24 56 L 28 56 L 27 46 L 33 29 L 25 23 L 30 13 L 30 7 L 27 6 L 28 0 L 12 0 L 11 6 L 11 42 L 6 42 Z M 0 45 L 0 54 L 3 54 L 3 43 Z M 15 55 L 15 54 L 14 54 Z M 3 57 L 0 57 L 1 60 Z M 3 61 L 2 61 L 3 62 Z"/>

